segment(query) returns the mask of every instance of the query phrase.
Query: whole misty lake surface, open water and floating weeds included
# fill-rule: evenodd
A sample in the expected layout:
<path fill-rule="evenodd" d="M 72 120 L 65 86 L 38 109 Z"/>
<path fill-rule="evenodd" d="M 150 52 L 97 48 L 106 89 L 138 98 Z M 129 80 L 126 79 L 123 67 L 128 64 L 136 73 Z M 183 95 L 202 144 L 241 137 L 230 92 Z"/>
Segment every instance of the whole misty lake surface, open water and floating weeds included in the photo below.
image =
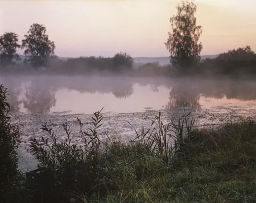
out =
<path fill-rule="evenodd" d="M 134 138 L 133 127 L 149 128 L 159 111 L 164 122 L 192 112 L 196 126 L 256 116 L 254 81 L 6 75 L 0 77 L 0 83 L 10 91 L 7 100 L 13 106 L 11 121 L 20 128 L 19 160 L 23 171 L 36 167 L 28 145 L 31 138 L 45 136 L 42 124 L 47 123 L 57 138 L 63 139 L 61 124 L 67 122 L 74 142 L 79 142 L 77 117 L 86 129 L 92 113 L 102 107 L 101 139 L 108 134 L 125 142 Z"/>

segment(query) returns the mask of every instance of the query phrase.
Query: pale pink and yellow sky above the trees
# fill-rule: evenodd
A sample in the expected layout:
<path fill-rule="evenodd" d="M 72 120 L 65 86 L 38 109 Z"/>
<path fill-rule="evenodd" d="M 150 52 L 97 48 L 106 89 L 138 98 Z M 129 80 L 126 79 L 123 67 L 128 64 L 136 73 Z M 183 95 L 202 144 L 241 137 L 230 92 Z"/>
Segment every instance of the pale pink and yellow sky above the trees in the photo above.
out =
<path fill-rule="evenodd" d="M 164 43 L 176 0 L 0 1 L 0 35 L 16 32 L 20 41 L 33 23 L 47 28 L 55 54 L 133 57 L 168 56 Z M 201 54 L 250 45 L 256 52 L 255 0 L 195 0 L 203 28 Z"/>

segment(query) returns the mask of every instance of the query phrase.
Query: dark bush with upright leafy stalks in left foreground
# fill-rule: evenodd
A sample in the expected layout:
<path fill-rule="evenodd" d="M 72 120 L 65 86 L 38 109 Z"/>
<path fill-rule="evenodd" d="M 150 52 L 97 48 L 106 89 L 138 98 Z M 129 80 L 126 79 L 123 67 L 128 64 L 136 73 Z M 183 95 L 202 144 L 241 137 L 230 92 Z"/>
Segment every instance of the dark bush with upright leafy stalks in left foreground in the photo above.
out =
<path fill-rule="evenodd" d="M 38 168 L 26 174 L 27 188 L 34 191 L 33 202 L 67 202 L 69 193 L 93 193 L 98 184 L 99 147 L 97 129 L 101 126 L 102 114 L 94 113 L 93 128 L 82 131 L 80 138 L 84 145 L 72 142 L 69 126 L 63 124 L 64 141 L 57 141 L 55 133 L 47 125 L 42 129 L 47 137 L 31 139 L 31 152 L 38 160 Z"/>

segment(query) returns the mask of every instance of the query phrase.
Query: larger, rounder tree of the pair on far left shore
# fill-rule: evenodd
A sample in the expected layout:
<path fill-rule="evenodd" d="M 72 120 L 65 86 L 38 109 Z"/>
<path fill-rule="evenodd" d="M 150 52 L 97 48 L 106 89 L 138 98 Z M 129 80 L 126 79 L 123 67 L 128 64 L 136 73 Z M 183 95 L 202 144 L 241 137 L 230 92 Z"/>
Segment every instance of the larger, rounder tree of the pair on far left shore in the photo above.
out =
<path fill-rule="evenodd" d="M 35 67 L 46 66 L 47 61 L 54 55 L 55 44 L 49 40 L 46 27 L 34 23 L 30 26 L 25 39 L 22 40 L 22 49 L 26 60 Z"/>

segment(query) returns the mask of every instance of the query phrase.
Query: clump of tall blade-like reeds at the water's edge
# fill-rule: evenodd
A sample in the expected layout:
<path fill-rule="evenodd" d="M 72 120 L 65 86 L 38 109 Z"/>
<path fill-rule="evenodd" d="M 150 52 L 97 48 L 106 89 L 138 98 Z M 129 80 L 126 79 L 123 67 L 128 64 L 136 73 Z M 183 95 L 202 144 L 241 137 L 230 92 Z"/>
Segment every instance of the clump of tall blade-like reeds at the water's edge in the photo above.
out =
<path fill-rule="evenodd" d="M 156 154 L 163 155 L 164 162 L 170 164 L 179 151 L 184 153 L 187 145 L 189 145 L 195 124 L 195 119 L 189 119 L 190 114 L 191 112 L 181 117 L 177 122 L 171 120 L 171 122 L 164 124 L 161 117 L 162 113 L 159 112 L 159 115 L 155 116 L 155 120 L 152 120 L 148 130 L 142 126 L 141 133 L 138 133 L 134 128 L 137 136 L 133 141 L 150 147 Z"/>

